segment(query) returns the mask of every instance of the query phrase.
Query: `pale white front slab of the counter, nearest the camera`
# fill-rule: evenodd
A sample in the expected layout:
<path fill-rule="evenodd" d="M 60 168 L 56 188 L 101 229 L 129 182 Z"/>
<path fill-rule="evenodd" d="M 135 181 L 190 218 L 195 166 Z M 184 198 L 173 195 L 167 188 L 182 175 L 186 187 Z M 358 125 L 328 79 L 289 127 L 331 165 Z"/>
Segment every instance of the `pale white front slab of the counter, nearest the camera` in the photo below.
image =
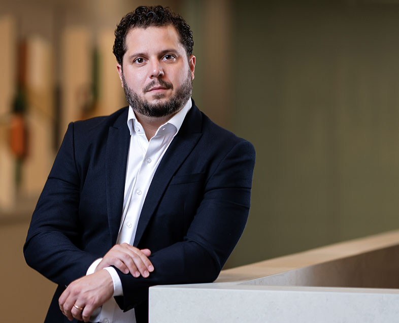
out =
<path fill-rule="evenodd" d="M 150 288 L 149 322 L 397 322 L 399 290 L 231 283 Z"/>

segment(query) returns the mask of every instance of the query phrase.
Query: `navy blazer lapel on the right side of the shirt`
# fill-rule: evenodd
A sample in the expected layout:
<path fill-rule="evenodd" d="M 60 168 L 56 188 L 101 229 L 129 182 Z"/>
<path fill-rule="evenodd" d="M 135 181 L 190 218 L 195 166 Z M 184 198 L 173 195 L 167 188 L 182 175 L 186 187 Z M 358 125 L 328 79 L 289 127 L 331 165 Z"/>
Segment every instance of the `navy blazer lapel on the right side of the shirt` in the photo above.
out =
<path fill-rule="evenodd" d="M 175 136 L 168 150 L 163 155 L 151 181 L 147 197 L 141 210 L 139 223 L 137 225 L 135 241 L 133 243 L 134 246 L 137 246 L 143 237 L 148 222 L 158 206 L 163 192 L 168 187 L 173 175 L 175 175 L 180 165 L 190 154 L 198 140 L 200 140 L 202 136 L 201 128 L 202 114 L 193 102 L 190 111 L 187 113 L 183 121 L 179 133 Z"/>

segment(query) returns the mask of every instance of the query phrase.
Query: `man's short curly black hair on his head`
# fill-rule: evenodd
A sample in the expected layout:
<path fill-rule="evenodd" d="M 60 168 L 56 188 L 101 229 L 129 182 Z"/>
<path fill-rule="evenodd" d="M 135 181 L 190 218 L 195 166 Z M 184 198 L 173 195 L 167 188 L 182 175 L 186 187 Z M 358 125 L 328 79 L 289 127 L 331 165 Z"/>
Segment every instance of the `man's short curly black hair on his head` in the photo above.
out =
<path fill-rule="evenodd" d="M 118 63 L 122 65 L 123 55 L 126 52 L 126 35 L 130 29 L 166 25 L 173 25 L 176 28 L 180 42 L 186 50 L 187 57 L 189 57 L 192 54 L 194 41 L 192 40 L 192 31 L 187 22 L 168 7 L 142 6 L 138 7 L 134 12 L 125 15 L 115 29 L 113 53 Z"/>

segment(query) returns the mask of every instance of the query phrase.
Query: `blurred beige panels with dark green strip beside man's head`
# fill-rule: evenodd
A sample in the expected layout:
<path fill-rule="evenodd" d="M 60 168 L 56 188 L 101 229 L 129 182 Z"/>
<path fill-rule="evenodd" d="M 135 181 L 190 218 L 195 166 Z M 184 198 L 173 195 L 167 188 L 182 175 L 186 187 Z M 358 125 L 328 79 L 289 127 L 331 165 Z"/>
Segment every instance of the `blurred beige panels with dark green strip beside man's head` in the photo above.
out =
<path fill-rule="evenodd" d="M 60 138 L 71 121 L 108 115 L 126 105 L 112 53 L 113 30 L 92 35 L 67 27 L 62 35 L 62 111 Z"/>

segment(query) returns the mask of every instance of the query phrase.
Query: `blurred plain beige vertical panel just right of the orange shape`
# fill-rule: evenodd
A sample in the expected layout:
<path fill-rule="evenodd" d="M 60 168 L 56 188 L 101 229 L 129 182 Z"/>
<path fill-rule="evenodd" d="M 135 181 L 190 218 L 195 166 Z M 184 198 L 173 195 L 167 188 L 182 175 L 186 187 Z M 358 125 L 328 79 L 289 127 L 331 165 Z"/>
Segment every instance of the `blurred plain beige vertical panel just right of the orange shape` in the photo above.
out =
<path fill-rule="evenodd" d="M 29 136 L 21 193 L 30 198 L 43 189 L 55 156 L 52 145 L 55 122 L 53 48 L 39 36 L 26 40 L 25 79 L 25 118 Z"/>

